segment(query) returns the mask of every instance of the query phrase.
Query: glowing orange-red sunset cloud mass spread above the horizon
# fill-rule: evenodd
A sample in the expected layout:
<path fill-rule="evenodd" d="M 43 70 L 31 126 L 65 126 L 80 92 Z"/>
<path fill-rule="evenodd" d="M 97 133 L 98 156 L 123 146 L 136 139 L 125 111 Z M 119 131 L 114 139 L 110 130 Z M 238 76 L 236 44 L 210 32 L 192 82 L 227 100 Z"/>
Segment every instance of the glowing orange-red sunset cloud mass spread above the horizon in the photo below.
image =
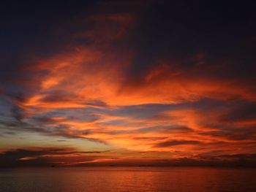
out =
<path fill-rule="evenodd" d="M 94 15 L 85 23 L 92 23 L 91 28 L 73 34 L 71 39 L 88 41 L 88 44 L 70 43 L 71 50 L 23 69 L 41 75 L 31 75 L 34 82 L 24 83 L 29 94 L 25 99 L 17 99 L 15 104 L 24 111 L 22 120 L 27 124 L 22 126 L 39 125 L 47 129 L 45 132 L 40 129 L 42 134 L 103 142 L 121 153 L 90 157 L 75 152 L 40 153 L 41 158 L 75 165 L 118 161 L 113 156 L 132 159 L 138 153 L 146 154 L 146 158 L 153 158 L 152 152 L 164 153 L 165 158 L 173 152 L 174 158 L 198 158 L 200 153 L 254 152 L 254 118 L 230 123 L 221 120 L 229 107 L 201 110 L 200 103 L 192 106 L 203 99 L 255 102 L 255 91 L 246 81 L 211 75 L 218 69 L 204 65 L 203 53 L 195 55 L 198 61 L 193 66 L 185 67 L 178 61 L 157 61 L 139 77 L 133 76 L 129 69 L 136 53 L 129 41 L 135 16 Z M 208 74 L 202 74 L 205 71 Z M 155 112 L 153 109 L 153 115 L 143 110 L 157 104 L 169 108 Z M 184 107 L 175 108 L 178 104 Z M 138 108 L 130 112 L 129 107 Z M 140 110 L 143 111 L 137 114 Z M 243 128 L 249 134 L 243 134 Z M 126 151 L 132 153 L 124 154 Z M 142 159 L 143 155 L 138 158 Z"/>

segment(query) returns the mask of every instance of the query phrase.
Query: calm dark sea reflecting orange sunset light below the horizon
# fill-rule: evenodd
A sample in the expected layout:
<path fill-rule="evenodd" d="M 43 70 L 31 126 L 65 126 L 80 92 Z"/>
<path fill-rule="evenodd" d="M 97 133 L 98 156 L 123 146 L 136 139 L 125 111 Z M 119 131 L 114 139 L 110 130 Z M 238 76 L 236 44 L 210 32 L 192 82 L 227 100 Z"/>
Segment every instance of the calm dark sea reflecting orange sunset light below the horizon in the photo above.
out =
<path fill-rule="evenodd" d="M 256 191 L 256 169 L 98 167 L 0 169 L 0 191 Z"/>

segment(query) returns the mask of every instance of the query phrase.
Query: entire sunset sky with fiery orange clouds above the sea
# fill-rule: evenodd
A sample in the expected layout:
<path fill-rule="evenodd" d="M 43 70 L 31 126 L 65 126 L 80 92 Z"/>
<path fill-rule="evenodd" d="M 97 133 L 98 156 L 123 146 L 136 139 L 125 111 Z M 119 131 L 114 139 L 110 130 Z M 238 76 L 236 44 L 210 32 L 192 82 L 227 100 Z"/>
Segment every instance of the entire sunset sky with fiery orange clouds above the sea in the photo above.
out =
<path fill-rule="evenodd" d="M 252 1 L 3 1 L 0 166 L 256 166 Z"/>

